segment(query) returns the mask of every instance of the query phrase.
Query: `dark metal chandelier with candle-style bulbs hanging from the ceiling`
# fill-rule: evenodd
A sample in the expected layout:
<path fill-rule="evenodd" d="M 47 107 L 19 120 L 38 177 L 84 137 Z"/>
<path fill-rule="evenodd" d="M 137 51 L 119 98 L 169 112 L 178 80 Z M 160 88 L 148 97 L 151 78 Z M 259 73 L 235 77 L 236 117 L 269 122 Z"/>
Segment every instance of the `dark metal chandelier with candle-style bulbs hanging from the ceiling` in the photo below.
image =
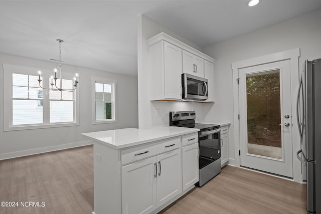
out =
<path fill-rule="evenodd" d="M 38 78 L 38 82 L 39 82 L 39 86 L 40 88 L 42 89 L 48 89 L 48 90 L 53 90 L 53 91 L 70 91 L 70 92 L 73 92 L 76 90 L 77 88 L 77 85 L 78 85 L 78 74 L 76 73 L 75 77 L 74 77 L 74 84 L 73 84 L 73 88 L 71 89 L 63 89 L 62 88 L 62 79 L 61 79 L 61 43 L 63 43 L 64 41 L 63 40 L 60 40 L 60 39 L 57 39 L 57 41 L 59 42 L 59 66 L 58 66 L 58 69 L 59 69 L 59 78 L 57 78 L 57 69 L 55 68 L 54 71 L 54 76 L 51 76 L 50 77 L 50 85 L 51 85 L 51 88 L 43 88 L 40 83 L 41 83 L 41 71 L 38 71 L 38 74 L 39 74 L 39 78 Z M 57 86 L 57 80 L 58 80 L 58 83 L 59 83 L 59 86 Z"/>

